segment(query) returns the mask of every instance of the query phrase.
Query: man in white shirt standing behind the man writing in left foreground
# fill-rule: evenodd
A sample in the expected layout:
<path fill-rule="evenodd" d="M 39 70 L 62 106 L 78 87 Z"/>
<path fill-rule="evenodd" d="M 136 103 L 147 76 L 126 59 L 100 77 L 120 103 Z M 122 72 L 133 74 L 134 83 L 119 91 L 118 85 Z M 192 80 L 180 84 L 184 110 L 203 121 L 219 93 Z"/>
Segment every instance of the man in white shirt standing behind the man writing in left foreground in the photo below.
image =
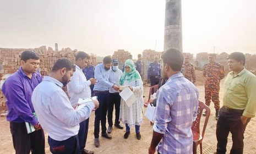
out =
<path fill-rule="evenodd" d="M 90 56 L 85 52 L 79 52 L 75 56 L 75 72 L 71 77 L 71 81 L 67 85 L 68 95 L 70 96 L 71 105 L 75 105 L 79 98 L 90 98 L 91 89 L 90 85 L 96 84 L 96 79 L 91 78 L 88 81 L 83 73 L 83 69 L 86 67 Z M 94 151 L 86 150 L 86 140 L 89 128 L 89 118 L 81 122 L 78 132 L 80 154 L 92 154 Z"/>

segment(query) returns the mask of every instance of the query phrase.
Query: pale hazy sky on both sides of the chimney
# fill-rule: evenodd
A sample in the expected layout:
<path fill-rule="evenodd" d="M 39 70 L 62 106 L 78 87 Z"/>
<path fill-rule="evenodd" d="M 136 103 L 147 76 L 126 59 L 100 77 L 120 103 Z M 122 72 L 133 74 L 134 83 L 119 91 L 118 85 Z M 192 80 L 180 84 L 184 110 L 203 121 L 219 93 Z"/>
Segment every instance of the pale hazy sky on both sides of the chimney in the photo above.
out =
<path fill-rule="evenodd" d="M 183 52 L 256 53 L 255 0 L 183 0 Z M 164 0 L 0 1 L 0 47 L 70 47 L 137 58 L 164 50 Z M 157 40 L 157 41 L 156 41 Z"/>

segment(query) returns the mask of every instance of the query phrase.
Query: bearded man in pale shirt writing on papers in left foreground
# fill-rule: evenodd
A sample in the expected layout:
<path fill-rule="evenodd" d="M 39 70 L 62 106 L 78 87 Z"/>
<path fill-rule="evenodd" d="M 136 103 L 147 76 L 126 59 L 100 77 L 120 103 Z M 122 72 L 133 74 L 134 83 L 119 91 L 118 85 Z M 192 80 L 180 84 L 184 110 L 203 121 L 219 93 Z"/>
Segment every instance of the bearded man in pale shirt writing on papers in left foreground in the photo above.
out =
<path fill-rule="evenodd" d="M 75 66 L 67 58 L 60 58 L 53 65 L 49 76 L 36 86 L 32 104 L 39 123 L 48 133 L 48 144 L 52 153 L 79 153 L 79 123 L 89 118 L 92 109 L 99 107 L 97 100 L 89 102 L 75 111 L 68 96 L 62 90 L 66 86 Z"/>

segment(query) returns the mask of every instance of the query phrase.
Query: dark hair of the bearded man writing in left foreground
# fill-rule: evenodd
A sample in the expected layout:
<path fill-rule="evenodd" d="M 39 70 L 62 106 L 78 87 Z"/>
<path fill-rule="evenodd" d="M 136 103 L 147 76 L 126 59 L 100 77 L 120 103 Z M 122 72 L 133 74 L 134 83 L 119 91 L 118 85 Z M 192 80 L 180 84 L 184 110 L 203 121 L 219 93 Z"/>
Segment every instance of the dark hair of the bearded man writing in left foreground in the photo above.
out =
<path fill-rule="evenodd" d="M 57 72 L 57 70 L 66 68 L 67 71 L 72 70 L 75 72 L 75 65 L 67 58 L 59 58 L 52 67 L 51 72 Z"/>

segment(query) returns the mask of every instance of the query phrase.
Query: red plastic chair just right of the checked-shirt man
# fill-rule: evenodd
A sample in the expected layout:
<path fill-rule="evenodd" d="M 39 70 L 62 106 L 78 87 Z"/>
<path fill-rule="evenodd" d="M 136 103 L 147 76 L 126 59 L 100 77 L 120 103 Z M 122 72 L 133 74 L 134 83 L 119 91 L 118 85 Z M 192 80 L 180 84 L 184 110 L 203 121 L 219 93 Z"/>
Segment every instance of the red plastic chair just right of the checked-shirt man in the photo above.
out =
<path fill-rule="evenodd" d="M 204 120 L 204 127 L 203 131 L 200 134 L 200 120 L 201 120 L 201 115 L 203 113 L 203 110 L 206 109 L 206 117 Z M 197 153 L 197 146 L 200 144 L 200 153 L 203 153 L 203 145 L 202 141 L 204 139 L 204 133 L 206 129 L 206 125 L 208 123 L 210 117 L 210 108 L 205 105 L 205 103 L 199 101 L 199 107 L 198 107 L 198 112 L 197 112 L 197 119 L 193 122 L 192 125 L 192 133 L 193 133 L 193 154 Z"/>

